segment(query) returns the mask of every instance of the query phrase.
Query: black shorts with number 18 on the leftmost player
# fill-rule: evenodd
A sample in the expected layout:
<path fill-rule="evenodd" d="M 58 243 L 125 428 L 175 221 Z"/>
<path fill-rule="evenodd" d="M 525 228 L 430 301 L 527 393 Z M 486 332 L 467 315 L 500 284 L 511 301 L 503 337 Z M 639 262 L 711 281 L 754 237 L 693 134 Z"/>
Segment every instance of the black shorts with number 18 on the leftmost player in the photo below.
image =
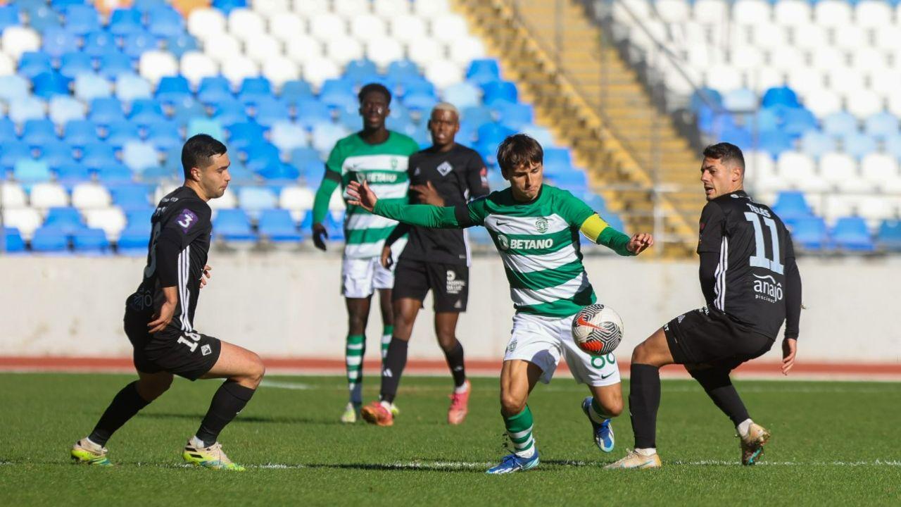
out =
<path fill-rule="evenodd" d="M 213 369 L 222 343 L 213 336 L 182 331 L 171 324 L 150 334 L 145 313 L 125 311 L 125 335 L 134 347 L 134 367 L 143 373 L 168 372 L 195 381 Z"/>

